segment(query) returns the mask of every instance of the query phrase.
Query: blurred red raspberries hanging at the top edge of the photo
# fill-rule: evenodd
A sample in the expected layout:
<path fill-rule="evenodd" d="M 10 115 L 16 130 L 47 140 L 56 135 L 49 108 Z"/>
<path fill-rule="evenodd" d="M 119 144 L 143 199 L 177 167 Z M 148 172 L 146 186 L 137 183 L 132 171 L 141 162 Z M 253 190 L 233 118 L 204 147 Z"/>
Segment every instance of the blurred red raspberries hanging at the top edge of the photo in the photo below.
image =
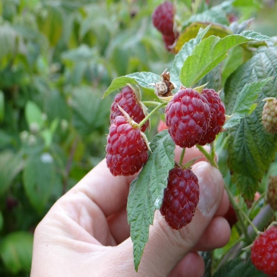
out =
<path fill-rule="evenodd" d="M 173 4 L 169 1 L 157 6 L 152 14 L 153 25 L 162 33 L 162 38 L 168 51 L 170 51 L 171 45 L 178 36 L 178 33 L 173 31 L 174 14 Z"/>

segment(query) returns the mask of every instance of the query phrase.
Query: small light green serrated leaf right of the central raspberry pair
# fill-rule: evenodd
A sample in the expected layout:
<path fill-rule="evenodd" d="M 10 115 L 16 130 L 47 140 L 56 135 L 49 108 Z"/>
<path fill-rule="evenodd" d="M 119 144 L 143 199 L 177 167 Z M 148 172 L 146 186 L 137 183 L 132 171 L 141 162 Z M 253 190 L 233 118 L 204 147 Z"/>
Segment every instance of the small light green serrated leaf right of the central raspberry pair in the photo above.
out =
<path fill-rule="evenodd" d="M 262 88 L 272 79 L 273 77 L 269 77 L 251 84 L 245 84 L 236 97 L 232 117 L 224 124 L 223 128 L 228 129 L 239 124 L 244 116 L 252 113 L 257 106 L 253 102 L 257 99 Z"/>

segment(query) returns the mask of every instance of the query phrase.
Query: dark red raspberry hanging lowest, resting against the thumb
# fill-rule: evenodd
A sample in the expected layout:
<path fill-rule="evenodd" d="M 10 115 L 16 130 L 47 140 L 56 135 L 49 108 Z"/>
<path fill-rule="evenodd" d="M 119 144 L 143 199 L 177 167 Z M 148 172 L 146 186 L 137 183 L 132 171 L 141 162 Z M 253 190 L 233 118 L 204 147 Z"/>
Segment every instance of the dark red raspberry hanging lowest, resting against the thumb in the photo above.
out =
<path fill-rule="evenodd" d="M 171 169 L 160 209 L 168 225 L 178 230 L 190 223 L 198 201 L 197 176 L 190 169 Z"/>

